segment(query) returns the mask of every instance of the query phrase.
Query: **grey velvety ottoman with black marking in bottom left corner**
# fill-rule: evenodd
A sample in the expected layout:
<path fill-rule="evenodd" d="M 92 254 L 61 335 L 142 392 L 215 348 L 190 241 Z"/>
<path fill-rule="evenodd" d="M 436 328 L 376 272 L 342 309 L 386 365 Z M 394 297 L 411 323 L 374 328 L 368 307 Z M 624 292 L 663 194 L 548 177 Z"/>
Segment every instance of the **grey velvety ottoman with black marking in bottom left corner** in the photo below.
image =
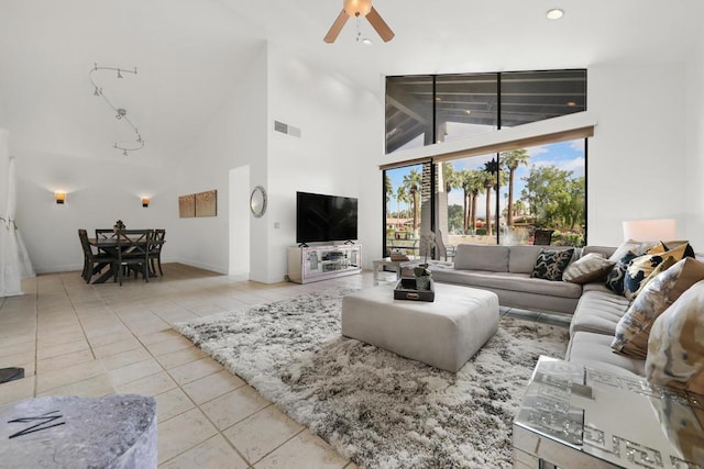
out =
<path fill-rule="evenodd" d="M 0 466 L 156 468 L 156 401 L 48 395 L 0 411 Z"/>

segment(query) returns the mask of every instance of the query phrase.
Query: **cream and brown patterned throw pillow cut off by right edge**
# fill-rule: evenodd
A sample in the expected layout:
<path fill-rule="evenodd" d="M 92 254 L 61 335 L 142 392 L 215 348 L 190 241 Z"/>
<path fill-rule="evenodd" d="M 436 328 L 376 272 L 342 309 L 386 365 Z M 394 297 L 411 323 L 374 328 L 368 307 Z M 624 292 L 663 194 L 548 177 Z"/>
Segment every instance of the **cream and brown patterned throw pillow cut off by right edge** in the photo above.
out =
<path fill-rule="evenodd" d="M 704 280 L 686 290 L 652 324 L 646 377 L 653 384 L 704 393 Z"/>

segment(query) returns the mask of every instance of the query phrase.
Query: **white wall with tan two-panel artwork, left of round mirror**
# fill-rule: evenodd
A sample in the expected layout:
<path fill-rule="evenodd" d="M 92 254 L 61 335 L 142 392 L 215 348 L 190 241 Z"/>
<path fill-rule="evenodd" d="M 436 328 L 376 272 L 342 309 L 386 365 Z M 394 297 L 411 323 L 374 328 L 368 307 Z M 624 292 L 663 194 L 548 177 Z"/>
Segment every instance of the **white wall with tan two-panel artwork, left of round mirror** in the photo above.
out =
<path fill-rule="evenodd" d="M 180 261 L 221 273 L 228 273 L 230 268 L 230 170 L 249 165 L 252 186 L 266 186 L 266 44 L 261 43 L 242 67 L 248 72 L 233 83 L 233 91 L 223 97 L 220 110 L 184 150 L 184 165 L 169 171 L 178 175 L 178 193 L 174 197 L 218 190 L 218 216 L 177 219 L 172 238 Z M 249 199 L 241 202 L 249 204 Z M 237 212 L 250 216 L 249 212 Z M 251 227 L 250 276 L 258 278 L 260 260 L 266 256 L 266 234 L 254 219 L 243 220 L 240 225 Z"/>

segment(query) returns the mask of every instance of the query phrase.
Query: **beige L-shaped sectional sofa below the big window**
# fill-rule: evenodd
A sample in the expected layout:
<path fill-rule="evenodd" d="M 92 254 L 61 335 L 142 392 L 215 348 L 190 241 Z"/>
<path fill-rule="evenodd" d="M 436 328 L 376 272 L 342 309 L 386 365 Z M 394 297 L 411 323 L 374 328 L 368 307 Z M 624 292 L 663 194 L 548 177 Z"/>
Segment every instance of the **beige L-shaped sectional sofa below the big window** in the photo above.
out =
<path fill-rule="evenodd" d="M 505 306 L 571 314 L 565 359 L 590 368 L 645 377 L 645 358 L 616 354 L 612 349 L 617 324 L 631 301 L 609 290 L 603 278 L 575 283 L 531 277 L 535 276 L 534 269 L 543 248 L 573 249 L 568 264 L 592 253 L 593 256 L 608 259 L 616 252 L 615 247 L 601 246 L 460 245 L 454 263 L 436 260 L 429 264 L 437 282 L 491 290 L 498 295 L 499 304 Z"/>

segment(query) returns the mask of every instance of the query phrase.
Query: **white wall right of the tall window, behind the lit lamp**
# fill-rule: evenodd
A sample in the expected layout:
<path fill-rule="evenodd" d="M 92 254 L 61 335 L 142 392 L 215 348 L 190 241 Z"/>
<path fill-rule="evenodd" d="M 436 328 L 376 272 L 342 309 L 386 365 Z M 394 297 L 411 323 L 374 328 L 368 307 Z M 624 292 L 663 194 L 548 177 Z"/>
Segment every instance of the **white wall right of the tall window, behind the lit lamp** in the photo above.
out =
<path fill-rule="evenodd" d="M 624 220 L 674 217 L 678 235 L 688 233 L 685 72 L 683 63 L 588 68 L 587 109 L 598 121 L 588 142 L 588 244 L 618 245 Z"/>

